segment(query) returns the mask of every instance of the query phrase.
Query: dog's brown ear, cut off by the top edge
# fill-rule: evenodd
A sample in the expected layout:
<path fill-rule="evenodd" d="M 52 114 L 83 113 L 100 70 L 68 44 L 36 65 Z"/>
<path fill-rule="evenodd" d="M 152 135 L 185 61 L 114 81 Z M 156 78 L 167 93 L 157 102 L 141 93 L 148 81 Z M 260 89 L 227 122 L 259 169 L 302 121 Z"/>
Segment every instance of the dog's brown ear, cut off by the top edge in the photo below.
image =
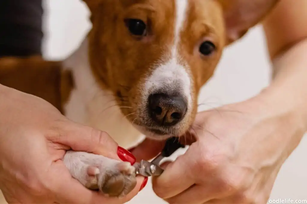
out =
<path fill-rule="evenodd" d="M 241 38 L 258 24 L 279 0 L 218 0 L 224 10 L 227 44 Z"/>

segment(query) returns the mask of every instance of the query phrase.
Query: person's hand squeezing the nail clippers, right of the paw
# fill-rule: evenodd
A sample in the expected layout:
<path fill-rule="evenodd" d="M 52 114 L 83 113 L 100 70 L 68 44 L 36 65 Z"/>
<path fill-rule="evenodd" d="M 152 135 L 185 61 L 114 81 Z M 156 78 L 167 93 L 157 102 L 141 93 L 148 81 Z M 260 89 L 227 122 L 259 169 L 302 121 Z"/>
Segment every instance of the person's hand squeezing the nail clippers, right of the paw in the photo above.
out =
<path fill-rule="evenodd" d="M 154 192 L 169 203 L 266 203 L 305 127 L 265 95 L 198 113 L 190 129 L 197 141 L 162 165 Z"/>

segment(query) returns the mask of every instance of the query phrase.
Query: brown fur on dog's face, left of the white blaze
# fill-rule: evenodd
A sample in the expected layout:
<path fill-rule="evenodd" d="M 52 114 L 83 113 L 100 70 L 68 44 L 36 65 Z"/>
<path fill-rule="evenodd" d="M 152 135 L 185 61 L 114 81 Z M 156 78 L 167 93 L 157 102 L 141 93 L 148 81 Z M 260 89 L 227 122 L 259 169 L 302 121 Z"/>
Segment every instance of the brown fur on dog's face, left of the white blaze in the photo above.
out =
<path fill-rule="evenodd" d="M 146 1 L 106 0 L 100 4 L 99 12 L 96 10 L 98 14 L 94 13 L 92 17 L 93 28 L 89 34 L 91 68 L 101 85 L 117 96 L 120 106 L 138 106 L 140 83 L 161 56 L 164 45 L 173 39 L 174 2 L 143 2 Z M 132 17 L 150 25 L 152 35 L 142 40 L 131 36 L 124 19 Z M 169 23 L 165 23 L 165 19 Z M 122 112 L 128 115 L 131 110 L 122 109 Z"/>

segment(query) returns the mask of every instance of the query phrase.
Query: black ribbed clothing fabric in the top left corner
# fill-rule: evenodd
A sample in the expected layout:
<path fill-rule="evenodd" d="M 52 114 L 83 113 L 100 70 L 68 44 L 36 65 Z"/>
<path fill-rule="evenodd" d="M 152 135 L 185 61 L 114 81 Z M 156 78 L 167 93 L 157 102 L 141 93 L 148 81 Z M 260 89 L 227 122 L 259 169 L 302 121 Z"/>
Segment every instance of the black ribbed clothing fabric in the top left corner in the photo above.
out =
<path fill-rule="evenodd" d="M 41 55 L 42 0 L 0 0 L 0 57 Z"/>

